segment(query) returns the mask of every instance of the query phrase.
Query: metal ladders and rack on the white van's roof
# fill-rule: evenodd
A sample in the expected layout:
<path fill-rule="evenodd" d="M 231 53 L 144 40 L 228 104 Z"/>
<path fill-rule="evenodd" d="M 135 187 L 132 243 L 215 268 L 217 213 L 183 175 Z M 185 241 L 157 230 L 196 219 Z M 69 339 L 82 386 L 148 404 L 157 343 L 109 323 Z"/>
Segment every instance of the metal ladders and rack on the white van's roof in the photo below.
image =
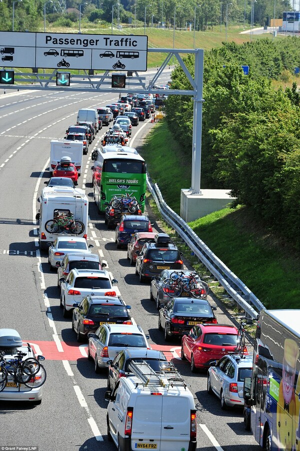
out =
<path fill-rule="evenodd" d="M 146 386 L 162 386 L 162 387 L 186 387 L 190 386 L 185 383 L 181 374 L 177 371 L 173 363 L 168 362 L 168 366 L 161 369 L 160 372 L 155 372 L 151 366 L 145 362 L 133 362 L 131 361 L 128 365 L 129 371 L 138 377 L 142 385 Z"/>

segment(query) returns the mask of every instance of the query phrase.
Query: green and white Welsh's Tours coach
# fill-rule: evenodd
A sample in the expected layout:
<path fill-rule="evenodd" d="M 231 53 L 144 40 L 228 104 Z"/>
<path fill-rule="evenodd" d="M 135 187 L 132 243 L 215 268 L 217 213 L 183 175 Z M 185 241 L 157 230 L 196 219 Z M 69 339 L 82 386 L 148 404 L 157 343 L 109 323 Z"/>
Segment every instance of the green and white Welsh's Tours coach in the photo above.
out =
<path fill-rule="evenodd" d="M 129 146 L 107 144 L 94 155 L 93 191 L 100 212 L 113 195 L 134 196 L 141 211 L 145 207 L 146 165 L 137 151 Z"/>

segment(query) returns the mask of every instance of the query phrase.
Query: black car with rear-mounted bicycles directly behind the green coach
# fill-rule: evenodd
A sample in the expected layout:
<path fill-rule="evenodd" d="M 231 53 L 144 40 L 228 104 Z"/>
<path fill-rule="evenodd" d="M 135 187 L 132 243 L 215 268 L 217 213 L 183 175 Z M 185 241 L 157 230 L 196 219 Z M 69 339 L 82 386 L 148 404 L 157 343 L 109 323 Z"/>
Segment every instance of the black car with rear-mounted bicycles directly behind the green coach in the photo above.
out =
<path fill-rule="evenodd" d="M 124 197 L 122 195 L 114 195 L 109 202 L 105 202 L 105 218 L 104 222 L 107 228 L 116 225 L 122 214 L 141 214 L 140 206 L 135 197 Z"/>

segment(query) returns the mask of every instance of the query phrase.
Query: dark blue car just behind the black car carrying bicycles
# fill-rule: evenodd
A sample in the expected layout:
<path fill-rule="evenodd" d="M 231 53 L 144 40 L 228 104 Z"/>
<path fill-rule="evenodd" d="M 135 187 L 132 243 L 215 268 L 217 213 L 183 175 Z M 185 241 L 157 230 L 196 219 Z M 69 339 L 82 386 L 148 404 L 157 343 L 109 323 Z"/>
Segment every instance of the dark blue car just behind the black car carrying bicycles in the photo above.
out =
<path fill-rule="evenodd" d="M 127 246 L 131 236 L 136 232 L 152 232 L 152 225 L 145 214 L 123 214 L 115 228 L 115 242 L 119 249 Z"/>

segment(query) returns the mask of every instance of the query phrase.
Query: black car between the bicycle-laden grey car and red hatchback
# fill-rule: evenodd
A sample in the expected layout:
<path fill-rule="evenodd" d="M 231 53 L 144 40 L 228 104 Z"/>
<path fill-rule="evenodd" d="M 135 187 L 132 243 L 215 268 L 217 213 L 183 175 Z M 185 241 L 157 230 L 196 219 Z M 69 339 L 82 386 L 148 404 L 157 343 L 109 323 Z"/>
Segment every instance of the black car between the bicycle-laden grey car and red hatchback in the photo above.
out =
<path fill-rule="evenodd" d="M 188 333 L 195 324 L 210 322 L 216 324 L 213 310 L 206 299 L 175 297 L 170 299 L 158 312 L 158 329 L 164 331 L 164 340 L 171 336 Z"/>

